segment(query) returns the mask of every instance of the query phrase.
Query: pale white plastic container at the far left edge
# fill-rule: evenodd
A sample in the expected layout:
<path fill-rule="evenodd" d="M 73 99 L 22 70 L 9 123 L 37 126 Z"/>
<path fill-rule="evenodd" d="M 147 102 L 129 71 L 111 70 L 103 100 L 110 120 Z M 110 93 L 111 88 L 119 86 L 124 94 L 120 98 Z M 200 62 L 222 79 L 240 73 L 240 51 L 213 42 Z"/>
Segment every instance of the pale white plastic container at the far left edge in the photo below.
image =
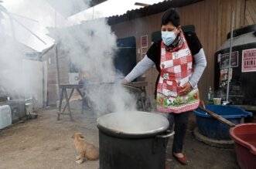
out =
<path fill-rule="evenodd" d="M 9 105 L 0 106 L 0 129 L 12 124 L 12 111 Z"/>

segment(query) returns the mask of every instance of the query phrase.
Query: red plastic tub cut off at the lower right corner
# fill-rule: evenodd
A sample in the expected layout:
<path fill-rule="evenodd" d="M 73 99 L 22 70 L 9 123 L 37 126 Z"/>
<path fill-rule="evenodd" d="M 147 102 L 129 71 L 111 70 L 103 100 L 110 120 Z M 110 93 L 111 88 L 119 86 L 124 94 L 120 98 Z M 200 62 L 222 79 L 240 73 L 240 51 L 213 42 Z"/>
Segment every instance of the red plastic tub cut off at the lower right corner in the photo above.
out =
<path fill-rule="evenodd" d="M 242 169 L 256 168 L 256 123 L 238 124 L 230 128 L 235 142 L 237 161 Z"/>

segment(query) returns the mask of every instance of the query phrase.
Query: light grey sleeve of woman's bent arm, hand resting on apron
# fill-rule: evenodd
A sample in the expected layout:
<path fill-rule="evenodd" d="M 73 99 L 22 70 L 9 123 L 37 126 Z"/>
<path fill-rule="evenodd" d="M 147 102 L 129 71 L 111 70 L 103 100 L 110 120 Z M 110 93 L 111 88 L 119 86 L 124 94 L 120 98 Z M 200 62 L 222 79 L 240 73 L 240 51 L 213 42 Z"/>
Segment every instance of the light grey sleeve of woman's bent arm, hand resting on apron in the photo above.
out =
<path fill-rule="evenodd" d="M 204 54 L 203 48 L 201 48 L 200 51 L 193 56 L 193 59 L 194 69 L 193 74 L 189 79 L 189 83 L 192 87 L 195 87 L 203 74 L 203 70 L 207 66 L 207 59 Z"/>

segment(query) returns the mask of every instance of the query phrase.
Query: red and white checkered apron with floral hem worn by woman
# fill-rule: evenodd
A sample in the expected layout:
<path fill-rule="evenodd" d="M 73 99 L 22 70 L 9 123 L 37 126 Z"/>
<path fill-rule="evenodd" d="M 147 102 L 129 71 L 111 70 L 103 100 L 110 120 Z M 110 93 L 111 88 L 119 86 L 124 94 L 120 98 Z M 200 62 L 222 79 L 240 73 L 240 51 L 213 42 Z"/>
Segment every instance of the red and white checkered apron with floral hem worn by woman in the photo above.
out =
<path fill-rule="evenodd" d="M 156 110 L 165 113 L 183 113 L 195 110 L 200 104 L 197 86 L 186 96 L 178 96 L 181 86 L 189 82 L 193 73 L 193 56 L 183 32 L 179 49 L 169 52 L 161 44 L 160 77 L 157 85 Z"/>

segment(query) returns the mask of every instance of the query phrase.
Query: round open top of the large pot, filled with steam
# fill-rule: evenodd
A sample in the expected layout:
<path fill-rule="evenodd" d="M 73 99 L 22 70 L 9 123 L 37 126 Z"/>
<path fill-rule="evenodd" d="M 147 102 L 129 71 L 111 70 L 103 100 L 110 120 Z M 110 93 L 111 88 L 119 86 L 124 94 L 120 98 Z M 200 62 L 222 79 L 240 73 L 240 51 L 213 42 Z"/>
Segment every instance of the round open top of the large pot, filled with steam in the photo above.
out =
<path fill-rule="evenodd" d="M 97 127 L 114 134 L 151 135 L 165 131 L 169 127 L 169 121 L 156 113 L 126 111 L 99 117 Z"/>

